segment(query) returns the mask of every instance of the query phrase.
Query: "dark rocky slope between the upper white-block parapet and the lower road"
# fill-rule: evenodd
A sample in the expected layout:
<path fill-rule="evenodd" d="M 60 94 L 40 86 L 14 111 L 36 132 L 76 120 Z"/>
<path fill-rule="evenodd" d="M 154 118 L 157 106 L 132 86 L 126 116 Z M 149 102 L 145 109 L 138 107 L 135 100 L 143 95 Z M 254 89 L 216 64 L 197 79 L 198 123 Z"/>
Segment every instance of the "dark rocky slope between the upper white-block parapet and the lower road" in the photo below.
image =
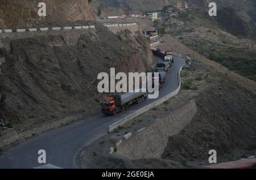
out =
<path fill-rule="evenodd" d="M 150 70 L 150 46 L 140 33 L 114 35 L 101 24 L 96 28 L 75 46 L 67 46 L 62 36 L 47 36 L 11 41 L 10 52 L 1 49 L 6 62 L 1 65 L 0 119 L 38 122 L 95 108 L 103 98 L 97 93 L 100 72 Z"/>

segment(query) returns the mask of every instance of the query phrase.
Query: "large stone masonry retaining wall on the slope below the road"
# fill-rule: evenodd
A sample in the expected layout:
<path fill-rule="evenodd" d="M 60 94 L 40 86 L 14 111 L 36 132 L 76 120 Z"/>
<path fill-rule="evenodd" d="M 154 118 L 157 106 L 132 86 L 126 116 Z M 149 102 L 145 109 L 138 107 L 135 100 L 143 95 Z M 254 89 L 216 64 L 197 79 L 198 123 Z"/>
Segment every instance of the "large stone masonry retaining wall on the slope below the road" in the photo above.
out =
<path fill-rule="evenodd" d="M 167 117 L 158 119 L 152 125 L 138 131 L 129 139 L 122 140 L 122 143 L 115 147 L 115 153 L 131 159 L 161 158 L 169 137 L 183 130 L 191 122 L 196 112 L 196 102 L 188 102 Z"/>

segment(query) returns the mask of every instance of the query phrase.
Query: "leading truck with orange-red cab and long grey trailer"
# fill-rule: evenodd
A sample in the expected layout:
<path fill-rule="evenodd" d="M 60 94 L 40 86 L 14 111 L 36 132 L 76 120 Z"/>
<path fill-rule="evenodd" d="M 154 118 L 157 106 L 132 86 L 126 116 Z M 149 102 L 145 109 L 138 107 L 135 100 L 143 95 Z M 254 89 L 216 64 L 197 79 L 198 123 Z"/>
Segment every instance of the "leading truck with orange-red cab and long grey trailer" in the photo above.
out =
<path fill-rule="evenodd" d="M 139 104 L 146 98 L 146 92 L 142 92 L 142 89 L 139 89 L 139 92 L 127 92 L 124 94 L 112 93 L 101 103 L 101 112 L 105 115 L 125 112 L 131 104 Z"/>

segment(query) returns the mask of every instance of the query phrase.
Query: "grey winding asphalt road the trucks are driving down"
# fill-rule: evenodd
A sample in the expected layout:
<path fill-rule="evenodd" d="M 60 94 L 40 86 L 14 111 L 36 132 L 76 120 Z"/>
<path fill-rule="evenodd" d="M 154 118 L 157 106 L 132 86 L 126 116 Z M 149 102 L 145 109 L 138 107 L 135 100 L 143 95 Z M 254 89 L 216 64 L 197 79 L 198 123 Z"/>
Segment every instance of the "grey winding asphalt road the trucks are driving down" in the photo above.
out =
<path fill-rule="evenodd" d="M 179 70 L 184 60 L 177 54 L 174 55 L 174 66 L 167 74 L 167 81 L 161 89 L 159 98 L 171 93 L 179 86 Z M 94 117 L 84 119 L 72 125 L 57 128 L 56 130 L 42 134 L 34 139 L 28 140 L 16 147 L 2 152 L 0 156 L 0 168 L 22 168 L 31 169 L 42 164 L 38 163 L 38 151 L 46 151 L 47 164 L 59 166 L 60 168 L 77 168 L 76 155 L 86 145 L 100 138 L 108 132 L 108 126 L 119 119 L 151 104 L 158 99 L 147 99 L 141 104 L 131 105 L 129 110 L 115 116 L 104 116 L 98 114 Z"/>

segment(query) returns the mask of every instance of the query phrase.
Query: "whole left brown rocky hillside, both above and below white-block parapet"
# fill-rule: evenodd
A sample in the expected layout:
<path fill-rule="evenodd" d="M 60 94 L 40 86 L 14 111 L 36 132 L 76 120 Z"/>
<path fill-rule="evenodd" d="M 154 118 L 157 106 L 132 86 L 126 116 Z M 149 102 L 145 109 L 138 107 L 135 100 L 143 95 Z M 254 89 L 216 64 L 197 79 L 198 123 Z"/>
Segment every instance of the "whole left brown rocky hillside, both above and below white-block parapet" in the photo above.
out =
<path fill-rule="evenodd" d="M 39 1 L 1 0 L 0 26 L 91 24 L 97 31 L 78 34 L 72 46 L 61 35 L 1 39 L 0 58 L 5 63 L 0 64 L 0 130 L 98 107 L 104 95 L 97 93 L 97 75 L 111 67 L 122 72 L 151 70 L 150 45 L 140 32 L 108 31 L 94 21 L 88 0 L 44 2 L 47 16 L 39 18 Z"/>

